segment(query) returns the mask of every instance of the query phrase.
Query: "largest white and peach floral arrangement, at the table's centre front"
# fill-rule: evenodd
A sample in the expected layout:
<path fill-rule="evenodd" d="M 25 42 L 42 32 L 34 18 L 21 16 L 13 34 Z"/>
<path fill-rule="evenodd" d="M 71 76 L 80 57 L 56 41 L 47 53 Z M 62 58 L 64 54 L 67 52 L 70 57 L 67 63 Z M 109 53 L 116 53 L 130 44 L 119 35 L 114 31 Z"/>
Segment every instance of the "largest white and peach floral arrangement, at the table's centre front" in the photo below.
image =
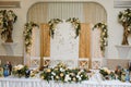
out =
<path fill-rule="evenodd" d="M 55 67 L 46 69 L 40 74 L 43 79 L 68 82 L 82 82 L 88 79 L 86 71 L 80 69 L 68 69 L 63 63 L 59 63 Z"/>

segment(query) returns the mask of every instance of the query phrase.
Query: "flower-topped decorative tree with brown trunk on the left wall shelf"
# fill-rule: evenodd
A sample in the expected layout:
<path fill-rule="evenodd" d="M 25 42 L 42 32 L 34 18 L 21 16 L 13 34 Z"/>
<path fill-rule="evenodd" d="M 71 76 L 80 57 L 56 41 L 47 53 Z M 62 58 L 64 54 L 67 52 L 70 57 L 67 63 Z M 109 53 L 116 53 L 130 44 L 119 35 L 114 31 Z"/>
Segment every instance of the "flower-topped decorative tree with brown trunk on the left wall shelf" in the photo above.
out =
<path fill-rule="evenodd" d="M 0 11 L 0 34 L 1 39 L 5 40 L 5 42 L 13 42 L 12 39 L 12 30 L 13 23 L 15 23 L 17 16 L 14 14 L 12 10 L 1 10 Z"/>

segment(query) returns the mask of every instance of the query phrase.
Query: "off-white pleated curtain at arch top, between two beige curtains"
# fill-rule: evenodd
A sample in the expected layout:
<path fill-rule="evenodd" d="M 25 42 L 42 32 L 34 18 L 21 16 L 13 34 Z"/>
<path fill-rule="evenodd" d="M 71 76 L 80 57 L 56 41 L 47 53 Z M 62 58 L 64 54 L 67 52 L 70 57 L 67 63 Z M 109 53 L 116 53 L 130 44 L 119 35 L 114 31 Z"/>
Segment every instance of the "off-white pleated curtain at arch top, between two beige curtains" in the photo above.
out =
<path fill-rule="evenodd" d="M 48 3 L 48 20 L 78 17 L 83 21 L 83 3 L 81 2 L 50 2 Z"/>

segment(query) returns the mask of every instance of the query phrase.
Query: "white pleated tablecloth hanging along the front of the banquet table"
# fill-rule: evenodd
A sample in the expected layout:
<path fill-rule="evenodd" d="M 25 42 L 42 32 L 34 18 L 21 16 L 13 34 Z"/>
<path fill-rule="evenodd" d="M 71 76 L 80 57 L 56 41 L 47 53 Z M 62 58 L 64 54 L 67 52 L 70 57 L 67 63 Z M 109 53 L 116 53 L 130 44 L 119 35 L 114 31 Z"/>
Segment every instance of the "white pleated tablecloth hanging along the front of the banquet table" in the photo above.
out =
<path fill-rule="evenodd" d="M 131 83 L 119 80 L 93 82 L 85 80 L 82 83 L 58 83 L 46 82 L 40 78 L 0 78 L 0 87 L 131 87 Z"/>

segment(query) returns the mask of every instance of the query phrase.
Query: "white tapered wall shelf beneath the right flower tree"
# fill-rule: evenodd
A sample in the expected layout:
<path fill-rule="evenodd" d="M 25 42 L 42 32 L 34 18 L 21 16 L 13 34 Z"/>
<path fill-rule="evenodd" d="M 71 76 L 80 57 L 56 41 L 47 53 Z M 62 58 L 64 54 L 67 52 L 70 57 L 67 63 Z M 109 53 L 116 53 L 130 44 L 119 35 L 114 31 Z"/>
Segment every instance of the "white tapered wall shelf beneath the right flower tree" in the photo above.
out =
<path fill-rule="evenodd" d="M 116 48 L 118 50 L 119 58 L 128 58 L 131 46 L 116 46 Z"/>

